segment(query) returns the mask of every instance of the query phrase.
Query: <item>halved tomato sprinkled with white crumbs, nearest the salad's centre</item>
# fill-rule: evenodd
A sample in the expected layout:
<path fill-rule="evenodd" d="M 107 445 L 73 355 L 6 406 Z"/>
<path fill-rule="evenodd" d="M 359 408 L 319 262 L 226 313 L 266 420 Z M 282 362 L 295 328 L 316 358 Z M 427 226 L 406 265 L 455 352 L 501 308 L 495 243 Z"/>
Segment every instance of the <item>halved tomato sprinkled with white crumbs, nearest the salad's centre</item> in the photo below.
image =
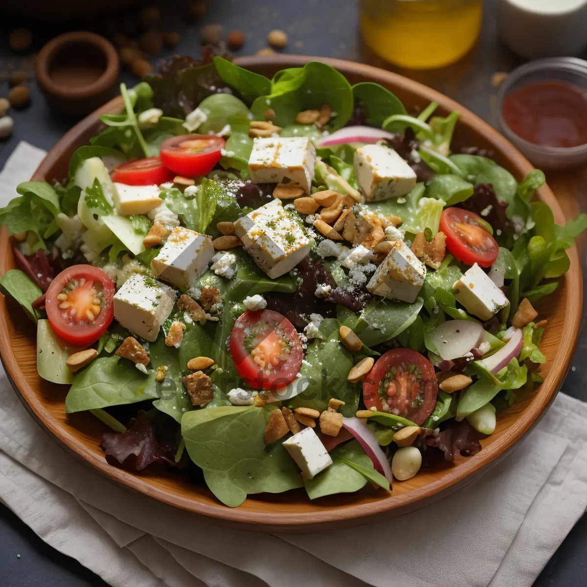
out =
<path fill-rule="evenodd" d="M 232 328 L 229 349 L 238 375 L 255 389 L 285 387 L 302 365 L 302 341 L 294 325 L 272 310 L 242 314 Z"/>

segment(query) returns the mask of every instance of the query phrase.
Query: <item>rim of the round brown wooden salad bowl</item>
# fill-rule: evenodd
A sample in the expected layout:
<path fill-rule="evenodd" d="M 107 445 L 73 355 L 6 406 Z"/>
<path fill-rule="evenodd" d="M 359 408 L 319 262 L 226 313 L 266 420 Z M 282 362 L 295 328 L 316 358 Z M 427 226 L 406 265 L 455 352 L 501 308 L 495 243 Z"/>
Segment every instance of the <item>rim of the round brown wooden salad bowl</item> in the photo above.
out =
<path fill-rule="evenodd" d="M 522 156 L 512 144 L 501 136 L 488 123 L 485 123 L 470 110 L 465 109 L 454 100 L 442 95 L 436 90 L 430 89 L 418 82 L 414 82 L 406 77 L 397 75 L 396 73 L 388 72 L 369 65 L 362 65 L 360 63 L 349 62 L 339 59 L 329 58 L 315 58 L 310 56 L 296 56 L 296 55 L 275 55 L 268 57 L 243 57 L 235 60 L 238 65 L 245 68 L 255 68 L 256 66 L 275 66 L 278 68 L 302 66 L 311 60 L 318 60 L 332 65 L 339 69 L 345 75 L 361 75 L 369 77 L 374 82 L 389 84 L 397 87 L 402 87 L 403 90 L 416 96 L 424 97 L 428 100 L 438 102 L 443 109 L 458 110 L 461 113 L 460 124 L 466 124 L 472 127 L 476 134 L 480 134 L 485 140 L 494 144 L 508 161 L 515 166 L 521 174 L 527 174 L 534 167 Z M 49 151 L 45 160 L 35 171 L 32 180 L 42 181 L 46 174 L 53 166 L 56 160 L 59 159 L 59 154 L 66 151 L 66 147 L 75 143 L 84 134 L 87 133 L 97 122 L 100 114 L 119 112 L 122 109 L 122 99 L 120 97 L 111 100 L 104 104 L 100 109 L 96 110 L 81 122 L 76 124 L 65 136 L 58 141 Z M 551 207 L 555 221 L 558 224 L 565 222 L 564 214 L 559 206 L 556 198 L 550 188 L 544 185 L 538 191 L 538 198 L 544 201 Z M 4 250 L 8 245 L 8 231 L 3 230 L 0 237 L 0 247 Z M 10 332 L 8 323 L 6 322 L 6 303 L 2 298 L 0 301 L 0 355 L 4 363 L 6 373 L 11 378 L 15 390 L 21 394 L 22 399 L 28 404 L 29 411 L 32 411 L 43 425 L 54 434 L 65 447 L 74 451 L 92 465 L 99 473 L 106 475 L 111 480 L 125 485 L 127 488 L 139 491 L 149 497 L 152 497 L 165 504 L 174 507 L 180 507 L 184 510 L 195 512 L 196 514 L 207 517 L 217 518 L 220 521 L 238 522 L 239 524 L 251 525 L 257 529 L 276 529 L 282 531 L 305 531 L 309 528 L 318 527 L 320 524 L 330 522 L 336 524 L 343 522 L 345 525 L 357 525 L 364 523 L 367 520 L 377 519 L 376 516 L 397 510 L 400 512 L 410 511 L 419 506 L 419 502 L 424 499 L 438 498 L 450 491 L 451 488 L 460 487 L 467 483 L 466 477 L 473 474 L 481 468 L 487 467 L 503 456 L 506 451 L 511 450 L 518 441 L 524 437 L 532 427 L 537 423 L 539 418 L 544 414 L 549 404 L 554 399 L 558 388 L 561 385 L 566 371 L 571 362 L 573 350 L 576 345 L 576 338 L 581 324 L 581 307 L 582 307 L 582 274 L 581 265 L 579 263 L 579 255 L 576 247 L 568 249 L 571 266 L 569 271 L 565 274 L 566 283 L 566 308 L 572 306 L 578 307 L 578 312 L 570 312 L 570 319 L 566 319 L 562 328 L 561 342 L 559 348 L 556 350 L 556 355 L 552 361 L 552 367 L 541 386 L 542 398 L 541 402 L 532 402 L 521 414 L 512 426 L 497 440 L 485 447 L 483 451 L 473 457 L 468 457 L 463 463 L 444 472 L 441 478 L 433 481 L 423 487 L 416 488 L 405 494 L 390 496 L 382 498 L 379 501 L 370 502 L 368 504 L 345 505 L 343 507 L 322 508 L 322 510 L 313 510 L 304 513 L 282 513 L 279 511 L 285 504 L 275 503 L 275 512 L 260 512 L 260 511 L 245 511 L 241 508 L 229 508 L 220 502 L 203 502 L 204 498 L 197 493 L 186 498 L 183 495 L 174 493 L 173 491 L 163 490 L 154 487 L 148 478 L 142 478 L 133 475 L 122 469 L 112 467 L 106 463 L 103 457 L 93 453 L 79 440 L 78 437 L 73 436 L 59 425 L 56 420 L 43 405 L 39 397 L 33 392 L 31 386 L 26 381 L 25 376 L 19 369 L 14 353 L 12 352 L 10 344 Z M 6 270 L 5 259 L 0 260 L 0 270 Z M 546 393 L 545 393 L 546 389 Z M 472 480 L 472 479 L 471 479 Z M 375 517 L 375 518 L 374 518 Z M 379 518 L 380 519 L 380 518 Z M 332 527 L 332 525 L 330 526 Z"/>

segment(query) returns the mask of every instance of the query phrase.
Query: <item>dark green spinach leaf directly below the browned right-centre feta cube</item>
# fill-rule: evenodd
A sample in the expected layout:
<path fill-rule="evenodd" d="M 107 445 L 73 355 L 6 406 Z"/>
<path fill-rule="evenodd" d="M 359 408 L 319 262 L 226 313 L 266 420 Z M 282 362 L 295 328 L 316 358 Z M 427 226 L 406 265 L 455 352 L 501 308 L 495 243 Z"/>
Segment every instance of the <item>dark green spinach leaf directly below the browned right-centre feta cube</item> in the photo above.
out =
<path fill-rule="evenodd" d="M 422 305 L 422 298 L 416 298 L 413 303 L 373 298 L 359 315 L 346 318 L 344 325 L 353 330 L 364 345 L 373 347 L 406 330 L 416 320 Z"/>

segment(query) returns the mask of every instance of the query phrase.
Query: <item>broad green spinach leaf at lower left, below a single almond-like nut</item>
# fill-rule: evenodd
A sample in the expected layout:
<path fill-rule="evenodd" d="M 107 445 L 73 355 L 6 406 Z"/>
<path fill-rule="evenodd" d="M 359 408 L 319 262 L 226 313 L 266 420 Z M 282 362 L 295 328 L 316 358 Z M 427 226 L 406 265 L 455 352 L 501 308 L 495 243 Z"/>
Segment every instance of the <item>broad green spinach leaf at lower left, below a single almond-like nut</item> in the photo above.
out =
<path fill-rule="evenodd" d="M 147 375 L 119 356 L 98 357 L 80 371 L 65 398 L 68 414 L 143 402 L 157 397 L 155 372 Z"/>

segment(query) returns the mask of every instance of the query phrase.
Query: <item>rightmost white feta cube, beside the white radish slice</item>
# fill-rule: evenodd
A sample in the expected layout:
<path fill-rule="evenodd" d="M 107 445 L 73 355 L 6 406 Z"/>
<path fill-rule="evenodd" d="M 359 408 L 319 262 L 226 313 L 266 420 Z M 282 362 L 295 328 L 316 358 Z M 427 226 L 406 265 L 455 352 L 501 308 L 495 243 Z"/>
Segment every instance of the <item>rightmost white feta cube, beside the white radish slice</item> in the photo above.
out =
<path fill-rule="evenodd" d="M 453 294 L 468 313 L 481 320 L 489 320 L 495 313 L 510 305 L 504 292 L 491 281 L 490 276 L 477 263 L 455 282 Z"/>

